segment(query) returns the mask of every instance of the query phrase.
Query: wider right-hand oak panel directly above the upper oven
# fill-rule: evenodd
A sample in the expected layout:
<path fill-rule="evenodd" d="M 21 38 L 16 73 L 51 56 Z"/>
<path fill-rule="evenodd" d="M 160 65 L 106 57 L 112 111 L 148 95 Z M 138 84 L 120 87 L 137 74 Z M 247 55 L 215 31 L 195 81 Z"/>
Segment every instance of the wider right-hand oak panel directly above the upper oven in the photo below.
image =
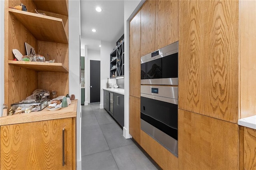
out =
<path fill-rule="evenodd" d="M 156 49 L 178 41 L 179 1 L 156 0 Z"/>

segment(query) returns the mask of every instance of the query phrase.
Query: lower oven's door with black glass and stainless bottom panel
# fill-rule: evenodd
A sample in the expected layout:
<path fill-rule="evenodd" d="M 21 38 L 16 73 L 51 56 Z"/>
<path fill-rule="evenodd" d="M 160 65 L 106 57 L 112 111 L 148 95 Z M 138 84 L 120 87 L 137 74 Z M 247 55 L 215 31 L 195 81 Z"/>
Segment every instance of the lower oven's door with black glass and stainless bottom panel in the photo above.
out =
<path fill-rule="evenodd" d="M 141 129 L 178 157 L 178 100 L 141 94 Z"/>

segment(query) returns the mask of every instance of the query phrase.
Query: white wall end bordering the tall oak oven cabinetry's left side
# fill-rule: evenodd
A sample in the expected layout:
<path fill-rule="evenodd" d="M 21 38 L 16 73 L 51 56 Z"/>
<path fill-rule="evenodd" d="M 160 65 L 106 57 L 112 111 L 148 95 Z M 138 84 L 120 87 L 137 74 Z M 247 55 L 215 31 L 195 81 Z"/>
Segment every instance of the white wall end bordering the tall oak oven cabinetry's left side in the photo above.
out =
<path fill-rule="evenodd" d="M 125 0 L 124 1 L 124 128 L 123 135 L 130 138 L 129 134 L 129 30 L 130 20 L 140 9 L 145 0 Z"/>

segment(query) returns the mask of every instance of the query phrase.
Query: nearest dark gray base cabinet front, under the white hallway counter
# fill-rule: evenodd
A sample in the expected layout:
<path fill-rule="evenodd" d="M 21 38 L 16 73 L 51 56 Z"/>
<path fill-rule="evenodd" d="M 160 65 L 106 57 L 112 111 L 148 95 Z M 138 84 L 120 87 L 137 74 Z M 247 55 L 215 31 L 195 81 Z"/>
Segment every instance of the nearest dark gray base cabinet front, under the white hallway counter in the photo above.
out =
<path fill-rule="evenodd" d="M 124 95 L 114 93 L 114 119 L 124 127 Z"/>

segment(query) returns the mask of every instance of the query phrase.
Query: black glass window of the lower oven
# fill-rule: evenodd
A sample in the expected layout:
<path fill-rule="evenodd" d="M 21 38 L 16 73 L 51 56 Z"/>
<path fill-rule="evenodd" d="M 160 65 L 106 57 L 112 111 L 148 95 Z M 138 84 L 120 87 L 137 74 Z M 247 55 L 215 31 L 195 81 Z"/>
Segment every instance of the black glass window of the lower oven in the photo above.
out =
<path fill-rule="evenodd" d="M 178 140 L 178 105 L 140 97 L 140 118 Z"/>

